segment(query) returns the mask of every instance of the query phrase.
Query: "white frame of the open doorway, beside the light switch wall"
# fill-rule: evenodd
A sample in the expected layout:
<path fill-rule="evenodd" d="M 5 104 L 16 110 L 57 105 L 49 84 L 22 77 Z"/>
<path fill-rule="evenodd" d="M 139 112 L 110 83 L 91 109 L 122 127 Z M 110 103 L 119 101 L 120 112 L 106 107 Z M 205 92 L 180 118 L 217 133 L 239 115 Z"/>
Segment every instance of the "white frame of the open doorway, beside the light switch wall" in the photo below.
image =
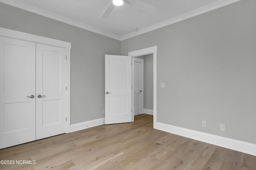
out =
<path fill-rule="evenodd" d="M 153 54 L 153 128 L 156 127 L 156 52 L 157 52 L 157 46 L 148 47 L 144 49 L 139 49 L 136 51 L 128 52 L 129 56 L 132 56 L 132 59 L 134 57 L 138 57 L 141 55 L 147 55 L 147 54 Z M 132 101 L 133 103 L 133 101 Z M 132 121 L 134 121 L 134 112 L 132 112 Z"/>

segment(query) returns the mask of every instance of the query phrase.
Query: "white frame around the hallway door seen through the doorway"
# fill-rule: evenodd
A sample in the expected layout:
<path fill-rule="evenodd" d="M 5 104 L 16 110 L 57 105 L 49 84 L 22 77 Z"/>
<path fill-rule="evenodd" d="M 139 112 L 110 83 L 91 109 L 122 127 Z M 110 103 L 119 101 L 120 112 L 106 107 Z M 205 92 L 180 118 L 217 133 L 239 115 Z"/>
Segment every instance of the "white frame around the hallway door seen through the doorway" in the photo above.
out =
<path fill-rule="evenodd" d="M 137 61 L 135 61 L 137 60 Z M 142 63 L 142 77 L 141 77 L 141 90 L 142 90 L 142 93 L 141 93 L 141 109 L 143 111 L 143 102 L 144 102 L 144 59 L 140 59 L 140 58 L 137 58 L 137 57 L 132 57 L 132 111 L 133 111 L 133 114 L 134 114 L 134 66 L 135 66 L 135 62 L 138 62 L 138 63 Z"/>

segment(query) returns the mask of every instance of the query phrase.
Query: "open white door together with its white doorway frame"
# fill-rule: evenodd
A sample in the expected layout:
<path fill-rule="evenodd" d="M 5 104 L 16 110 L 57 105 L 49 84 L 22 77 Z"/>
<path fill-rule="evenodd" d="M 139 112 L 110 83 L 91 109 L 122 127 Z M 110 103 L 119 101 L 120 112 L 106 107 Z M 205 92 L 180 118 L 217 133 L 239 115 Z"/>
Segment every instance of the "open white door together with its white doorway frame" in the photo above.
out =
<path fill-rule="evenodd" d="M 153 55 L 153 120 L 156 125 L 156 51 L 157 46 L 154 46 L 129 52 L 128 56 L 105 55 L 105 125 L 134 121 L 131 66 L 134 57 L 147 54 Z"/>

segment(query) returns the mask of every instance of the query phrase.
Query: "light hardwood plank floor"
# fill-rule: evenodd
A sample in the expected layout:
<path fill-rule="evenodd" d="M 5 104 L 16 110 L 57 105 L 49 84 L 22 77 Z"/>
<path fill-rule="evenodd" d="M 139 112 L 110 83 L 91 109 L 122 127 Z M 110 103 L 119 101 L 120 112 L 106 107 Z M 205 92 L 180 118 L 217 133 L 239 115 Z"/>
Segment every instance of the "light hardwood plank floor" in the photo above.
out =
<path fill-rule="evenodd" d="M 256 170 L 256 156 L 153 129 L 152 115 L 0 150 L 0 169 Z"/>

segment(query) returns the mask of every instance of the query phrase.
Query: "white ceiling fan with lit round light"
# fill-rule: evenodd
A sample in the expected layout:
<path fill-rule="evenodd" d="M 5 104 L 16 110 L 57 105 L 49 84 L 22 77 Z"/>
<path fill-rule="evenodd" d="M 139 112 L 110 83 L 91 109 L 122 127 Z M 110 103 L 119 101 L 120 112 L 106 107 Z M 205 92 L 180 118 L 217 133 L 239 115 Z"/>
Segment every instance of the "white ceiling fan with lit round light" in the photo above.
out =
<path fill-rule="evenodd" d="M 146 3 L 138 1 L 138 0 L 112 0 L 100 18 L 108 18 L 108 16 L 111 14 L 111 12 L 115 6 L 121 6 L 124 3 L 130 4 L 136 8 L 144 10 L 146 12 L 153 12 L 156 9 L 155 6 L 146 4 Z"/>

